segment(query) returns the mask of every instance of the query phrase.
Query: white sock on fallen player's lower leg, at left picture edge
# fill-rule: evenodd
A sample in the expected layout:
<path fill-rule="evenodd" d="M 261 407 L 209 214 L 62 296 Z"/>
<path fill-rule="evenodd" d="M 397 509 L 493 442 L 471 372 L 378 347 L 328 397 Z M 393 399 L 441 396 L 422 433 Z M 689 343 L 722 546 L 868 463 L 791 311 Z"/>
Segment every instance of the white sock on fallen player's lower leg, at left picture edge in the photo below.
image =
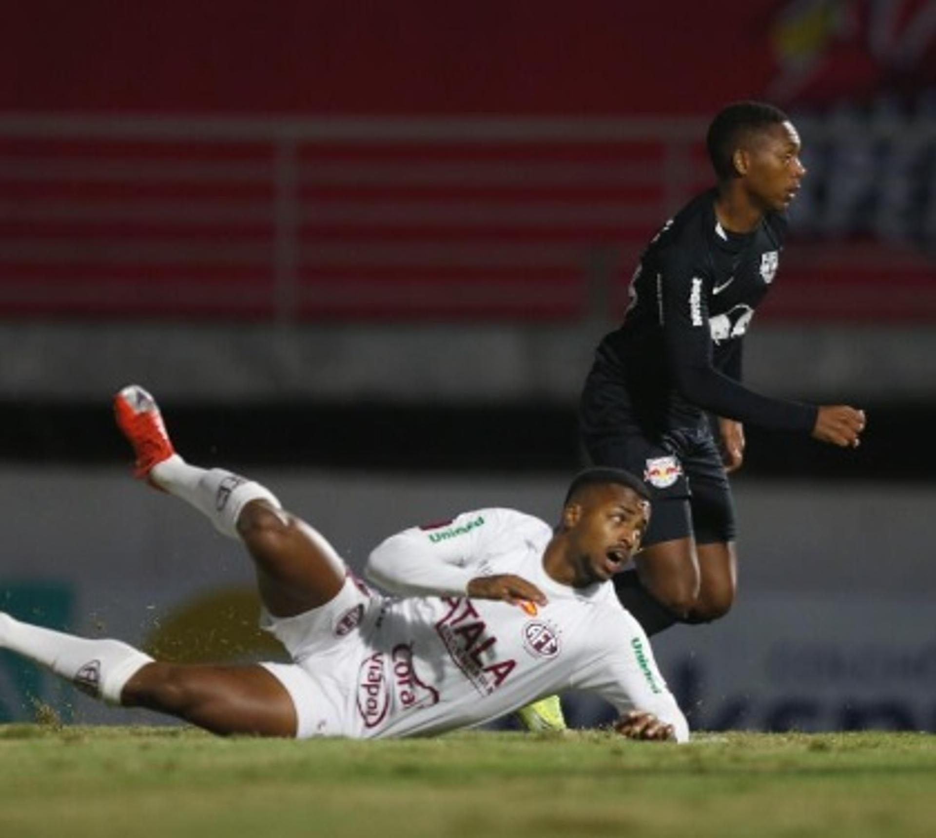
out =
<path fill-rule="evenodd" d="M 120 704 L 124 685 L 153 658 L 120 640 L 85 640 L 21 623 L 0 612 L 0 648 L 18 652 L 61 675 L 82 692 Z"/>

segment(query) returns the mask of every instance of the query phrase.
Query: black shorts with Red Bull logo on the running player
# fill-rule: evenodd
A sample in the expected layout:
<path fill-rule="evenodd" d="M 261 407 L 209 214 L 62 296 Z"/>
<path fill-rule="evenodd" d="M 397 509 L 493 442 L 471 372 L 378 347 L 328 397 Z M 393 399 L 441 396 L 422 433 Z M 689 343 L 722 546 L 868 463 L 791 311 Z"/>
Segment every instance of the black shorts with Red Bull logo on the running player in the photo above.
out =
<path fill-rule="evenodd" d="M 644 546 L 689 536 L 696 544 L 735 539 L 731 487 L 706 419 L 675 429 L 641 424 L 620 378 L 596 365 L 582 393 L 579 423 L 594 465 L 623 468 L 651 488 Z"/>

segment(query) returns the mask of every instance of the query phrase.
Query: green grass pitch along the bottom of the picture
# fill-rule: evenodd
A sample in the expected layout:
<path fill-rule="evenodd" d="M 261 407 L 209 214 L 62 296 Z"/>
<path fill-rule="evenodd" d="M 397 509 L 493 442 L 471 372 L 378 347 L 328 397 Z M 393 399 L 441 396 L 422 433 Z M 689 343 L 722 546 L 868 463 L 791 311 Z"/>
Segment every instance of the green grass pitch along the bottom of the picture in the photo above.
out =
<path fill-rule="evenodd" d="M 400 742 L 0 728 L 0 835 L 936 834 L 936 737 L 478 731 Z"/>

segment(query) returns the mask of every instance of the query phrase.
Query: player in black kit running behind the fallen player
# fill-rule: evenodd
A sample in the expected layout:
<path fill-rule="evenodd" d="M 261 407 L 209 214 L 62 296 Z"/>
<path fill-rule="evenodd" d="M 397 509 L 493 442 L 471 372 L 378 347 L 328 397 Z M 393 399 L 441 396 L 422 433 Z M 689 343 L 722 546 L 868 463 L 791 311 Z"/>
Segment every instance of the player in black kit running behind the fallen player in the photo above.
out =
<path fill-rule="evenodd" d="M 766 104 L 724 108 L 707 145 L 717 184 L 652 239 L 581 400 L 592 461 L 642 475 L 656 493 L 636 569 L 616 581 L 648 634 L 731 608 L 737 559 L 726 475 L 741 464 L 744 423 L 842 447 L 857 446 L 865 426 L 853 407 L 772 399 L 740 383 L 744 334 L 773 283 L 783 211 L 806 169 L 796 128 Z"/>

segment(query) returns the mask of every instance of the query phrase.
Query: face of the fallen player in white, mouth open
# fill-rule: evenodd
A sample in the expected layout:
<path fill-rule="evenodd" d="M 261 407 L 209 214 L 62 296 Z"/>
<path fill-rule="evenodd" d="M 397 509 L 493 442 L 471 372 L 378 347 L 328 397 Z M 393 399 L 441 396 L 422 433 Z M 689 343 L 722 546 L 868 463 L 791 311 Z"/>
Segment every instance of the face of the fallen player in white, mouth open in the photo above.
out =
<path fill-rule="evenodd" d="M 583 581 L 607 581 L 640 549 L 650 504 L 624 486 L 596 486 L 582 502 L 578 555 Z"/>

